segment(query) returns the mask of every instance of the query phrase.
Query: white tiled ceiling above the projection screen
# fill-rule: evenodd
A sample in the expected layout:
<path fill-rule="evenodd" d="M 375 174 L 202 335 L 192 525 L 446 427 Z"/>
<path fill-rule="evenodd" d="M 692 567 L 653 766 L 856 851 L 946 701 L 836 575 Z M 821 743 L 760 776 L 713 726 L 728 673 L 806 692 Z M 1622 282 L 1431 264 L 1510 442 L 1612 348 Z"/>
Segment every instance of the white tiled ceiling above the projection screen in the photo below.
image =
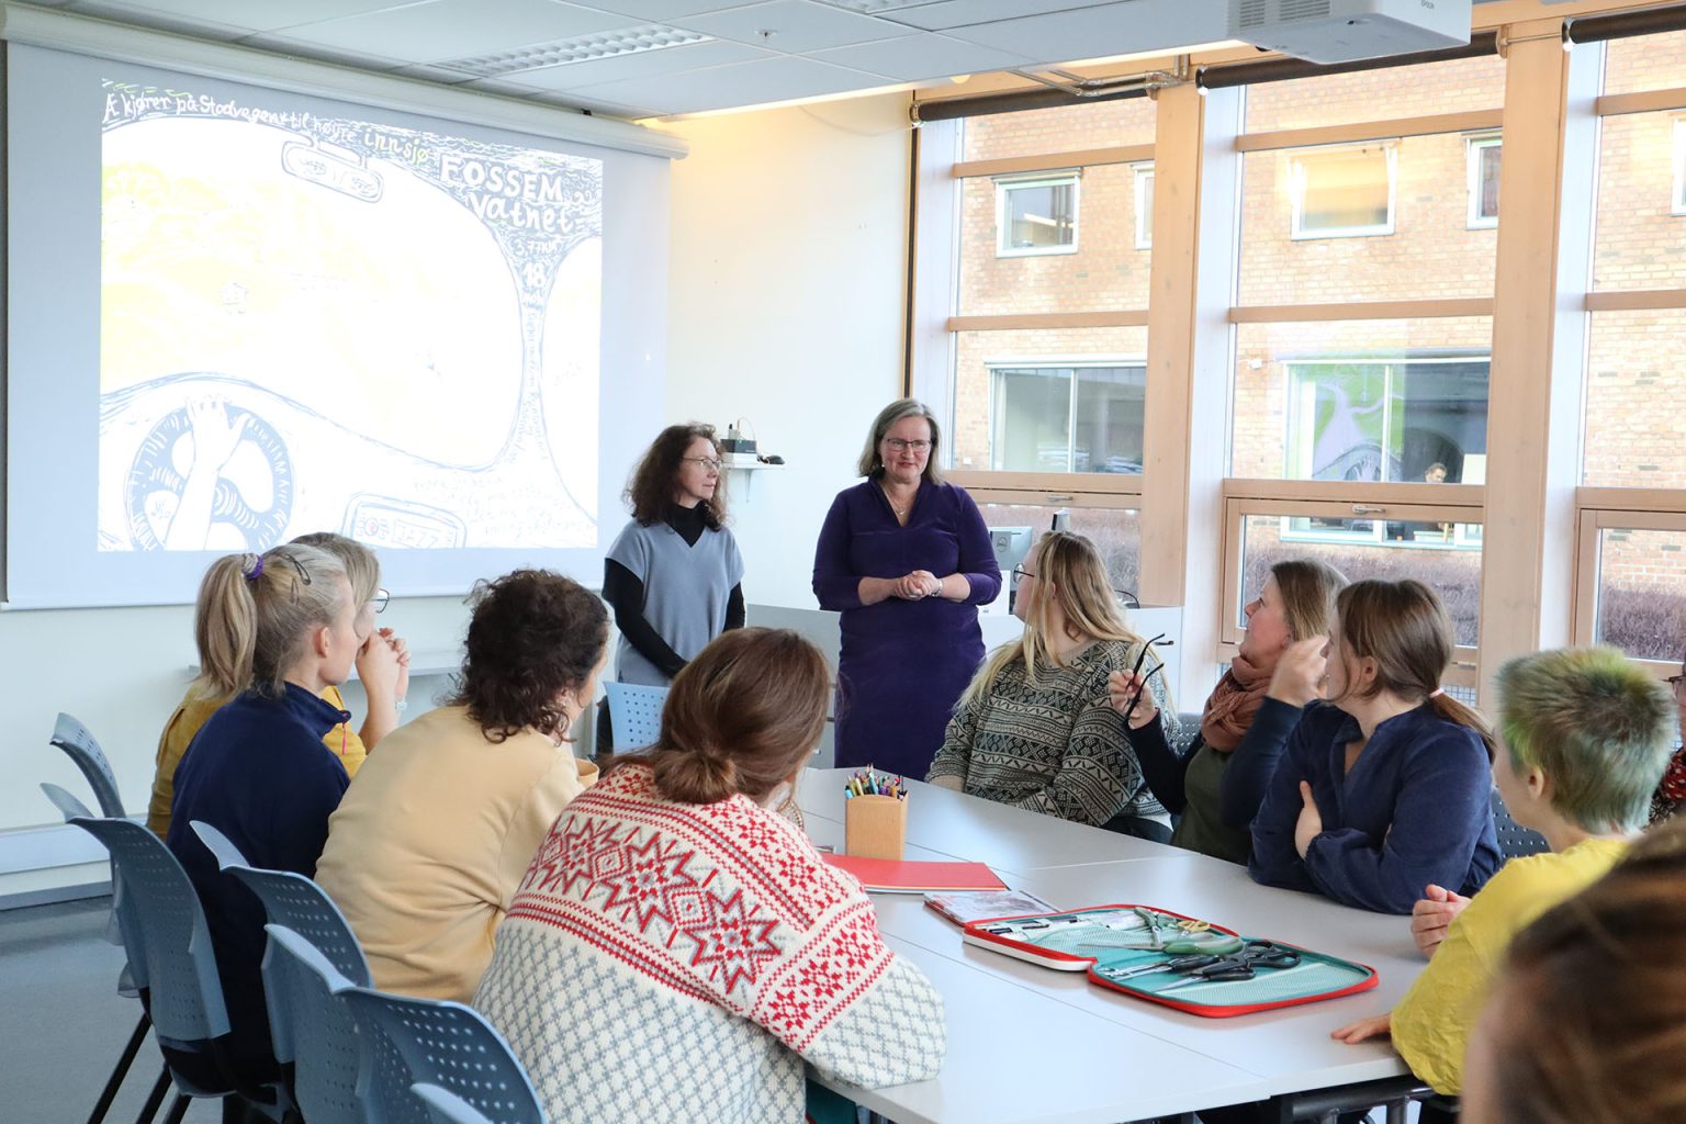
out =
<path fill-rule="evenodd" d="M 1229 5 L 35 0 L 34 7 L 642 118 L 1212 42 L 1226 34 Z"/>

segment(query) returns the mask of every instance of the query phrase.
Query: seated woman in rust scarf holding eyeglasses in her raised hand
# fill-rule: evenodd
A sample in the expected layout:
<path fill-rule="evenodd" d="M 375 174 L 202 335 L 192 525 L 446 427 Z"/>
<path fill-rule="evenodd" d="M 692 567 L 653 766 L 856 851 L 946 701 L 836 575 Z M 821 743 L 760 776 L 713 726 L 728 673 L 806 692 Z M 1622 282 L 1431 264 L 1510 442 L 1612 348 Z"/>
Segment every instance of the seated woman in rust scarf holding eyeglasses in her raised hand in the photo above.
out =
<path fill-rule="evenodd" d="M 1180 816 L 1170 843 L 1231 863 L 1253 853 L 1253 817 L 1310 696 L 1295 694 L 1303 664 L 1322 661 L 1345 576 L 1315 558 L 1270 568 L 1248 602 L 1246 634 L 1229 671 L 1212 688 L 1187 747 L 1172 735 L 1140 674 L 1108 684 L 1130 745 L 1160 804 Z M 1297 647 L 1298 645 L 1298 647 Z M 1320 671 L 1317 674 L 1322 674 Z M 1315 679 L 1315 676 L 1312 676 Z M 1133 704 L 1131 704 L 1133 703 Z"/>

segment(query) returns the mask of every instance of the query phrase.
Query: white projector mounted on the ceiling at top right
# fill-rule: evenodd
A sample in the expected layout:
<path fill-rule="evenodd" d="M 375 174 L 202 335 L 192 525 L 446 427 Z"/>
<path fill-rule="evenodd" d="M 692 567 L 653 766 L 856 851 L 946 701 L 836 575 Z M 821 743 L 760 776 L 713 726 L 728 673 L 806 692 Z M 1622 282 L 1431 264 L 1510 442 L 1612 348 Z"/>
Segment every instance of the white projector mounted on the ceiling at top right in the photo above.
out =
<path fill-rule="evenodd" d="M 1470 40 L 1470 0 L 1229 0 L 1229 37 L 1308 62 L 1443 51 Z"/>

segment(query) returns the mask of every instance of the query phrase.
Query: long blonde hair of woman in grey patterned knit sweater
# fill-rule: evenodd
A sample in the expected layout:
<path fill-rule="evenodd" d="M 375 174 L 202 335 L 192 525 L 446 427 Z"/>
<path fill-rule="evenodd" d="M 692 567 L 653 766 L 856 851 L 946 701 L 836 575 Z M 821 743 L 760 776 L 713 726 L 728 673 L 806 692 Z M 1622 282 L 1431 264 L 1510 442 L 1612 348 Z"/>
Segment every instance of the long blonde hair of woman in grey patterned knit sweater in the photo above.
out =
<path fill-rule="evenodd" d="M 1035 586 L 1025 612 L 1025 632 L 1008 644 L 990 652 L 983 667 L 973 676 L 959 704 L 976 701 L 990 693 L 1001 671 L 1015 661 L 1023 661 L 1025 679 L 1032 686 L 1037 682 L 1037 666 L 1064 667 L 1066 661 L 1055 656 L 1055 644 L 1049 632 L 1054 627 L 1054 605 L 1066 615 L 1066 630 L 1094 640 L 1123 640 L 1125 644 L 1143 644 L 1143 637 L 1125 620 L 1125 612 L 1106 576 L 1106 563 L 1101 551 L 1087 538 L 1071 531 L 1049 531 L 1037 539 L 1037 571 L 1032 575 Z M 1049 593 L 1052 590 L 1052 593 Z M 1155 662 L 1162 662 L 1153 652 Z M 1153 664 L 1143 666 L 1150 671 Z"/>

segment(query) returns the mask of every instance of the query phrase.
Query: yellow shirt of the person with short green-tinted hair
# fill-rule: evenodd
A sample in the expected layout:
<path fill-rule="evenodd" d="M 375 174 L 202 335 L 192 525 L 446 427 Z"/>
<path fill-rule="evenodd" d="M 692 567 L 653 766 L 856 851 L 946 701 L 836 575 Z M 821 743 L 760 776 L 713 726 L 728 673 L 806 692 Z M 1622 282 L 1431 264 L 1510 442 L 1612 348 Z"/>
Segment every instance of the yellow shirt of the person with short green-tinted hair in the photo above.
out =
<path fill-rule="evenodd" d="M 1625 839 L 1585 839 L 1561 854 L 1529 854 L 1499 868 L 1393 1011 L 1393 1045 L 1413 1073 L 1435 1092 L 1462 1092 L 1463 1048 L 1511 939 L 1603 878 L 1625 851 Z"/>

